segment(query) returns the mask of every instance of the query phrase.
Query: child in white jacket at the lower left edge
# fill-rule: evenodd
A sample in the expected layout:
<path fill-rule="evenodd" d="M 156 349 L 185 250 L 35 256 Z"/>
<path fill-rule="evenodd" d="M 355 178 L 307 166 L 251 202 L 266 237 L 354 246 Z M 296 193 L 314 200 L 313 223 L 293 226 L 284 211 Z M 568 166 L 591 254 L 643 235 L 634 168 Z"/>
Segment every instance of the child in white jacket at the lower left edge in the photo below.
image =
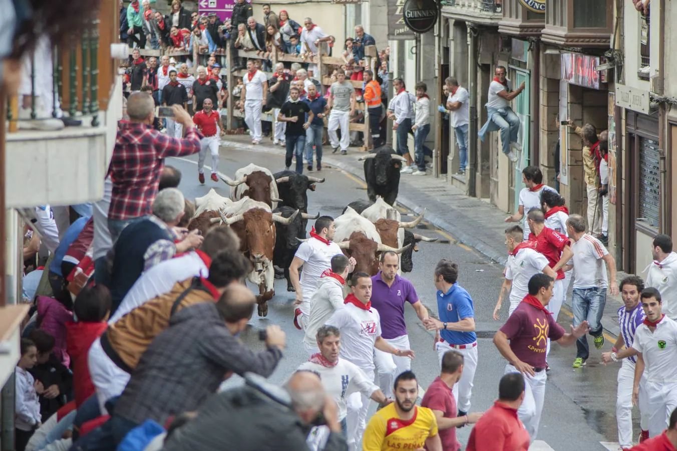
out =
<path fill-rule="evenodd" d="M 40 427 L 40 402 L 38 392 L 43 391 L 43 385 L 35 381 L 28 370 L 37 363 L 37 348 L 35 343 L 28 339 L 21 339 L 21 358 L 16 364 L 15 383 L 15 428 L 14 449 L 24 451 L 30 436 Z"/>

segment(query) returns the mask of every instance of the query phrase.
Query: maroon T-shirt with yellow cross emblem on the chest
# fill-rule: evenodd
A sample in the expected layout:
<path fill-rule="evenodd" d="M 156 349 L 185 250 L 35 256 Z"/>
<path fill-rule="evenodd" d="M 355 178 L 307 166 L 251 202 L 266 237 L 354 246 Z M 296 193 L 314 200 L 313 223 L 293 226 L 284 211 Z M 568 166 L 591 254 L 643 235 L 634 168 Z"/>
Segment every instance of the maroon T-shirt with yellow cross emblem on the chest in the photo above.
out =
<path fill-rule="evenodd" d="M 522 301 L 499 329 L 510 340 L 510 349 L 522 362 L 534 368 L 545 368 L 546 347 L 550 339 L 562 338 L 565 330 L 545 309 Z"/>

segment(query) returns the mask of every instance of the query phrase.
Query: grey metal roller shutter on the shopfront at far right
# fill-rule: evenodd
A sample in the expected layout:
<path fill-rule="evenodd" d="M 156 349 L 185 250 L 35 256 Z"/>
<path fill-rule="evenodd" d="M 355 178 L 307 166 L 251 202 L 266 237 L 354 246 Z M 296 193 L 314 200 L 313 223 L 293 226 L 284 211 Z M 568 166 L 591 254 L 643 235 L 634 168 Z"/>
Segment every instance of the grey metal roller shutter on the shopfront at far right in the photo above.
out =
<path fill-rule="evenodd" d="M 658 142 L 639 138 L 639 217 L 645 223 L 658 227 L 660 205 Z"/>

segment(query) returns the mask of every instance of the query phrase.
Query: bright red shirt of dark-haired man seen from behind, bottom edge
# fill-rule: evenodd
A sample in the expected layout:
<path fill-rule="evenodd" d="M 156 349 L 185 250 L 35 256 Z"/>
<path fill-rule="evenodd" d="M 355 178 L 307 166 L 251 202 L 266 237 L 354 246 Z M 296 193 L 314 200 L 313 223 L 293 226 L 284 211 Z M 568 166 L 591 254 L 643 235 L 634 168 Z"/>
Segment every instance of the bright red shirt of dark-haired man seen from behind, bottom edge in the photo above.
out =
<path fill-rule="evenodd" d="M 517 409 L 498 401 L 479 418 L 470 433 L 466 448 L 466 451 L 527 450 L 529 450 L 529 433 L 519 421 Z"/>

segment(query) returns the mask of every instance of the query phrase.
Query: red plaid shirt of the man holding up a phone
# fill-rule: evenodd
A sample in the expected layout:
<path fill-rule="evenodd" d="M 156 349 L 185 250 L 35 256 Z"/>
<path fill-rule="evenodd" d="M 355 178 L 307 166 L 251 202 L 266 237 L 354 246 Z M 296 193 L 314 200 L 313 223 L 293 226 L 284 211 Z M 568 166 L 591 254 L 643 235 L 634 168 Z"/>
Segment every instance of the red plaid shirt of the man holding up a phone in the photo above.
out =
<path fill-rule="evenodd" d="M 149 215 L 165 158 L 200 152 L 202 137 L 195 127 L 187 129 L 185 137 L 179 139 L 163 135 L 150 125 L 121 124 L 108 167 L 113 181 L 108 219 Z"/>

